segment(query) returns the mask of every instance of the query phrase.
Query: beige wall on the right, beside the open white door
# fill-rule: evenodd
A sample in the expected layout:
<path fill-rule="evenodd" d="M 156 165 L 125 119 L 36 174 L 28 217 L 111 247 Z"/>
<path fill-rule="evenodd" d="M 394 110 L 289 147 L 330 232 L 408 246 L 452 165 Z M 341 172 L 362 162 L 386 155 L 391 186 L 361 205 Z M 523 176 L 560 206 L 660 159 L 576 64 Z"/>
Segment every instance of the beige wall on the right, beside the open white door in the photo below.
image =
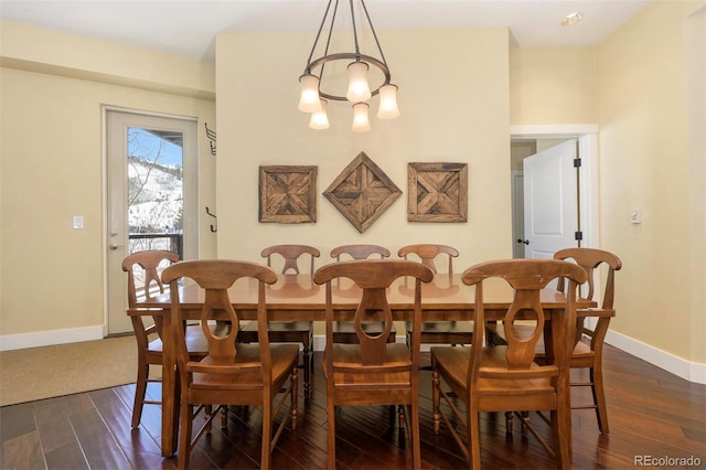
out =
<path fill-rule="evenodd" d="M 689 214 L 689 186 L 695 184 L 688 135 L 693 97 L 687 90 L 684 22 L 703 6 L 650 3 L 601 43 L 597 62 L 601 246 L 620 254 L 624 264 L 617 290 L 620 314 L 611 328 L 702 364 L 706 308 L 692 299 L 703 298 L 706 234 L 704 206 Z M 700 96 L 705 83 L 702 72 Z M 695 131 L 703 145 L 704 128 Z M 703 147 L 700 156 L 692 158 L 700 160 L 703 171 Z M 703 191 L 704 174 L 695 178 L 700 178 Z M 642 209 L 642 224 L 629 223 L 631 209 Z"/>

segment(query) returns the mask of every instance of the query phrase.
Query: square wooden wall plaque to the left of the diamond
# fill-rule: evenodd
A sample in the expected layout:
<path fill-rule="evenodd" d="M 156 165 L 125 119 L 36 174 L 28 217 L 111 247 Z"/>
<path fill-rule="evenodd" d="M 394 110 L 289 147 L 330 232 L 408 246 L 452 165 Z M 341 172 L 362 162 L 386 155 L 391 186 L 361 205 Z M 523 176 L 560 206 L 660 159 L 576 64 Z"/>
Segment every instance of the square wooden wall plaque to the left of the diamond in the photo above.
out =
<path fill-rule="evenodd" d="M 317 167 L 260 167 L 259 222 L 317 222 Z"/>

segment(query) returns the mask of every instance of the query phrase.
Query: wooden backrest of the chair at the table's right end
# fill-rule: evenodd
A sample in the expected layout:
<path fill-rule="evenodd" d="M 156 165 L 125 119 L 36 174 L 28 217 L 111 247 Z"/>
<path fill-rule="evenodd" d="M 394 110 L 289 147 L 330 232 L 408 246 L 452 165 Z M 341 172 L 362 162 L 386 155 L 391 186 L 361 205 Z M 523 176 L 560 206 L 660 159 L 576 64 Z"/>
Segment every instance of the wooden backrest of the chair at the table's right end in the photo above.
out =
<path fill-rule="evenodd" d="M 574 259 L 586 271 L 588 277 L 586 284 L 588 286 L 588 292 L 584 293 L 584 297 L 593 300 L 596 295 L 596 286 L 593 279 L 593 271 L 602 263 L 608 266 L 608 276 L 606 278 L 606 288 L 603 289 L 601 309 L 611 310 L 613 308 L 613 299 L 616 296 L 616 271 L 620 270 L 622 263 L 620 258 L 610 252 L 606 252 L 597 248 L 565 248 L 554 254 L 554 259 Z M 559 281 L 558 290 L 564 290 L 564 282 Z"/>

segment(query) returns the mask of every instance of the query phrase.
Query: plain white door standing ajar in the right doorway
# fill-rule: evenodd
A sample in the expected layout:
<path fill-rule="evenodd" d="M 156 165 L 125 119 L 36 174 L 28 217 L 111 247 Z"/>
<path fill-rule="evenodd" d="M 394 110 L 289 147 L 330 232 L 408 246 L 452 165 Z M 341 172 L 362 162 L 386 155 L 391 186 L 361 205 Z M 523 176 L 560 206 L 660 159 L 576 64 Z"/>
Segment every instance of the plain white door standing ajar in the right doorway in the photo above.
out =
<path fill-rule="evenodd" d="M 526 258 L 550 259 L 578 246 L 577 141 L 567 140 L 523 160 L 524 238 Z"/>

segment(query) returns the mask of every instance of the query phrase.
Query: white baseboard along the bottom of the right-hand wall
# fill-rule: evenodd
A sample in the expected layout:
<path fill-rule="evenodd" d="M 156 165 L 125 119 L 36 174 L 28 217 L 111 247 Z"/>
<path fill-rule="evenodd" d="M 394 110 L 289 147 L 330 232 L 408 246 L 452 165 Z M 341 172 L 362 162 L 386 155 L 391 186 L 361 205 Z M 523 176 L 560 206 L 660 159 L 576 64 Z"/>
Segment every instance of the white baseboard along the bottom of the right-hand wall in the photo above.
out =
<path fill-rule="evenodd" d="M 634 340 L 614 331 L 608 331 L 606 343 L 640 357 L 652 365 L 664 368 L 676 376 L 697 384 L 706 384 L 706 364 L 689 362 L 650 344 Z"/>

